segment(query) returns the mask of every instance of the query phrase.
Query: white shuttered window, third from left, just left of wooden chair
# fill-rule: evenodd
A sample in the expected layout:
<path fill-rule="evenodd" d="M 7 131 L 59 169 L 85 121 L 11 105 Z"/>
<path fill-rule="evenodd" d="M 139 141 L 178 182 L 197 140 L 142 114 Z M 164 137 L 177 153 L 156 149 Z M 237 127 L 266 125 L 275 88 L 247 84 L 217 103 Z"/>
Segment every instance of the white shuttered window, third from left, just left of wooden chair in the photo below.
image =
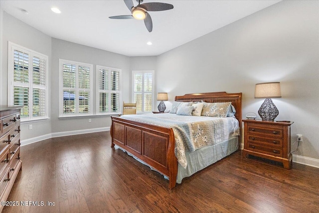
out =
<path fill-rule="evenodd" d="M 96 66 L 97 71 L 97 113 L 120 113 L 121 70 Z"/>

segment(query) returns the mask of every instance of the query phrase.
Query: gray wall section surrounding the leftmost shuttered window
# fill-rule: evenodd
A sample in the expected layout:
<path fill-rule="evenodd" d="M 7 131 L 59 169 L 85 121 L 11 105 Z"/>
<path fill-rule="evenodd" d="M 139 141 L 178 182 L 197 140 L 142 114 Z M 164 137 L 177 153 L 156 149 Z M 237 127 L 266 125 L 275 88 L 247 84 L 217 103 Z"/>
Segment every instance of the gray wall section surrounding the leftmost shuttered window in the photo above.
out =
<path fill-rule="evenodd" d="M 48 77 L 51 78 L 51 37 L 45 35 L 39 30 L 25 24 L 24 22 L 12 17 L 11 15 L 3 12 L 1 17 L 1 99 L 0 105 L 7 105 L 7 81 L 8 81 L 8 41 L 23 47 L 29 48 L 36 52 L 45 54 L 49 57 L 49 73 Z M 50 88 L 50 82 L 48 85 Z M 48 114 L 51 117 L 51 100 L 49 100 Z M 32 124 L 32 130 L 28 129 L 28 125 Z M 32 123 L 21 124 L 21 138 L 37 137 L 51 133 L 51 120 L 44 120 Z"/>

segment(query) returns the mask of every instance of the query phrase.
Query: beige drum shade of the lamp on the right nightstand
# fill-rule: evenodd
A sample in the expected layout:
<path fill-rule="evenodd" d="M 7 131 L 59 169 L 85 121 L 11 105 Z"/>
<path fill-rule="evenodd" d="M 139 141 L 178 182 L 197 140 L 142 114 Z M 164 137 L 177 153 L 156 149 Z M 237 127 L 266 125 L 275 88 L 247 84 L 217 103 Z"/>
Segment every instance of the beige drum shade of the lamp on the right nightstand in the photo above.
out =
<path fill-rule="evenodd" d="M 280 82 L 256 84 L 255 98 L 281 98 Z"/>

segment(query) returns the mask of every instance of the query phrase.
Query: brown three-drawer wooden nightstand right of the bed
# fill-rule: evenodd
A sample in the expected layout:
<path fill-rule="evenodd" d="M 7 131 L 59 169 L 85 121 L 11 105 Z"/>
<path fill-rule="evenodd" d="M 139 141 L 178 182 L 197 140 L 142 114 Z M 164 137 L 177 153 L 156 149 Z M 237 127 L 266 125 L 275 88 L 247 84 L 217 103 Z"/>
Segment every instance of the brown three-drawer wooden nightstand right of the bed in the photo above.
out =
<path fill-rule="evenodd" d="M 290 126 L 294 122 L 276 122 L 262 120 L 244 121 L 243 156 L 254 155 L 282 162 L 285 169 L 290 169 Z"/>

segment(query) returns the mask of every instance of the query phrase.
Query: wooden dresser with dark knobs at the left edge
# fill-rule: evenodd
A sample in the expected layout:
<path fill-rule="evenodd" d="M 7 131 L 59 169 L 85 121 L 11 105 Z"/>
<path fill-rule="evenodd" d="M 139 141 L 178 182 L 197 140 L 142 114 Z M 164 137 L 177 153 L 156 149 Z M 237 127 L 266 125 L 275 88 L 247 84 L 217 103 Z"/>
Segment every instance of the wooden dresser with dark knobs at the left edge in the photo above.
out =
<path fill-rule="evenodd" d="M 0 106 L 0 201 L 6 201 L 21 163 L 20 107 Z"/>

